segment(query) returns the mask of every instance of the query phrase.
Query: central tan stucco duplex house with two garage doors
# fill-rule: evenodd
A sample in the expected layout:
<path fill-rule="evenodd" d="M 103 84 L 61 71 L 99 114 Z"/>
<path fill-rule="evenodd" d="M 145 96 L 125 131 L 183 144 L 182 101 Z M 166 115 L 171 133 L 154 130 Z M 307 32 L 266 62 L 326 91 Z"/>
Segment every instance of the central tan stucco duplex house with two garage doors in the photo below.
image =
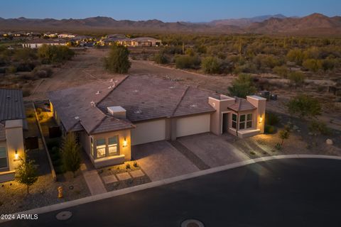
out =
<path fill-rule="evenodd" d="M 64 133 L 75 132 L 95 167 L 131 159 L 131 145 L 185 135 L 264 133 L 266 99 L 232 98 L 151 76 L 49 92 Z"/>

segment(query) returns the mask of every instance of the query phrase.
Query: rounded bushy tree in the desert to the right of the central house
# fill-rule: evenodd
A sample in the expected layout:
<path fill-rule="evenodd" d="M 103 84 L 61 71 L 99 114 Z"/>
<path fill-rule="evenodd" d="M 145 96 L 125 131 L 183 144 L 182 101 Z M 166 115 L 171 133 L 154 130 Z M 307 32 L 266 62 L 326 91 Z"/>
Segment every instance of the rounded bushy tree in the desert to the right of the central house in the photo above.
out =
<path fill-rule="evenodd" d="M 300 118 L 315 118 L 321 115 L 322 110 L 320 102 L 306 94 L 298 94 L 288 101 L 286 106 L 289 114 L 297 115 Z"/>

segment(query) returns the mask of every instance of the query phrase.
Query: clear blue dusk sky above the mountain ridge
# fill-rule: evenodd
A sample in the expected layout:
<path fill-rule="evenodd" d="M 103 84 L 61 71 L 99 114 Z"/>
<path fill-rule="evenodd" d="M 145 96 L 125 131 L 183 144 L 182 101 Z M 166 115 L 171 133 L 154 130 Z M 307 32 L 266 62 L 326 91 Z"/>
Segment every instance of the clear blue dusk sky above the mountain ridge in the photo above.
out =
<path fill-rule="evenodd" d="M 165 22 L 206 22 L 282 13 L 307 16 L 341 15 L 341 0 L 6 0 L 0 3 L 2 18 L 87 18 L 109 16 L 117 20 L 159 19 Z"/>

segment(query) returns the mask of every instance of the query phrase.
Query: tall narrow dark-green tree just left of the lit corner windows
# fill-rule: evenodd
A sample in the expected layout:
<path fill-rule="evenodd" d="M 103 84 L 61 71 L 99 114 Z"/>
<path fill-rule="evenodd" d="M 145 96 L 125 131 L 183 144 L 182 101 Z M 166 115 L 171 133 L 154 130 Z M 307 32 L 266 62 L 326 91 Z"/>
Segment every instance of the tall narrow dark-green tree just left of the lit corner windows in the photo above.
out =
<path fill-rule="evenodd" d="M 71 171 L 75 177 L 75 172 L 80 168 L 81 157 L 80 145 L 78 145 L 74 133 L 67 133 L 63 137 L 61 150 L 65 170 Z"/>

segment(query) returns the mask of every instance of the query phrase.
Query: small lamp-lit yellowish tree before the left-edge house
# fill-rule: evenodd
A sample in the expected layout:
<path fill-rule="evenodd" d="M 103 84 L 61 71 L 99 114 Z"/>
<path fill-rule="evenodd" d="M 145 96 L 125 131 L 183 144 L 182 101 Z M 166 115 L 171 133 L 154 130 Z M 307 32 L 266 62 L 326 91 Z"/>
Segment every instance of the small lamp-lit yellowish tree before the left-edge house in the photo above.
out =
<path fill-rule="evenodd" d="M 16 168 L 16 181 L 21 184 L 26 184 L 27 194 L 30 194 L 29 187 L 38 179 L 38 171 L 32 160 L 25 157 L 20 157 L 20 165 Z"/>

